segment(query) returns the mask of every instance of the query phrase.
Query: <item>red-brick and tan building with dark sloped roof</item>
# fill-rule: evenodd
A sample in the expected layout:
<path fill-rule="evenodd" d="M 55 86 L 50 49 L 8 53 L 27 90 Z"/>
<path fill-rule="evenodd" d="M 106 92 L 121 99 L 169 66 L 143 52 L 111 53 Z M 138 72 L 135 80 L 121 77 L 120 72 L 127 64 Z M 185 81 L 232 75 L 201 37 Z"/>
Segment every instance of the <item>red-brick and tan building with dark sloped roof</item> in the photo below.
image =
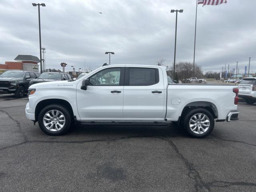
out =
<path fill-rule="evenodd" d="M 14 61 L 6 61 L 5 64 L 0 64 L 0 73 L 8 70 L 39 72 L 38 63 L 40 63 L 40 60 L 36 56 L 18 55 Z"/>

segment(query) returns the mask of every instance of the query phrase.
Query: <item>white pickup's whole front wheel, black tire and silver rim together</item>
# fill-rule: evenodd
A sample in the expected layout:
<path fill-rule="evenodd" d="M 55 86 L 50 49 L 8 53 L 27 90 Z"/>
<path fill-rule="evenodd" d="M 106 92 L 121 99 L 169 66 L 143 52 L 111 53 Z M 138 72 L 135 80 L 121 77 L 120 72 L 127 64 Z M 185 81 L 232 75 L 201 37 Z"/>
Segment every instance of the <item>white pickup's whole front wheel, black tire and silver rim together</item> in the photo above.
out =
<path fill-rule="evenodd" d="M 66 108 L 61 105 L 48 105 L 38 115 L 40 129 L 53 136 L 65 134 L 70 128 L 71 116 Z"/>

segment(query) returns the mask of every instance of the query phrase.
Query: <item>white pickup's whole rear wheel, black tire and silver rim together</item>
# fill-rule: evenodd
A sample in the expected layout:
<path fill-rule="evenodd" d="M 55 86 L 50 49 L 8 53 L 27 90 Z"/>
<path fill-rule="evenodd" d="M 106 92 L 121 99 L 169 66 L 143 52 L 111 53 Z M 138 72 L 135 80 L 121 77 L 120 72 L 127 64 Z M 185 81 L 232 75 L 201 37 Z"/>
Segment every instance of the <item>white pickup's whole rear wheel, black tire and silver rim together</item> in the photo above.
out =
<path fill-rule="evenodd" d="M 205 108 L 195 108 L 186 114 L 184 118 L 185 131 L 194 138 L 208 136 L 214 128 L 214 117 Z"/>

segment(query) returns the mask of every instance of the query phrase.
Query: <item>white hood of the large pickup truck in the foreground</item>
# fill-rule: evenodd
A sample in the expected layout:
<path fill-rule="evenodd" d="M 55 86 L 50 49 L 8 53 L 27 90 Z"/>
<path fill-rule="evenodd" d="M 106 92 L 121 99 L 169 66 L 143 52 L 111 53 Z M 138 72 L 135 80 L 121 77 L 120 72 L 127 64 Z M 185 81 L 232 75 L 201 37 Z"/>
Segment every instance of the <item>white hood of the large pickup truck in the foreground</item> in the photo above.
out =
<path fill-rule="evenodd" d="M 34 80 L 33 80 L 34 81 Z M 48 81 L 32 84 L 29 88 L 40 89 L 40 88 L 63 88 L 63 87 L 74 87 L 78 82 L 65 80 L 65 81 Z"/>

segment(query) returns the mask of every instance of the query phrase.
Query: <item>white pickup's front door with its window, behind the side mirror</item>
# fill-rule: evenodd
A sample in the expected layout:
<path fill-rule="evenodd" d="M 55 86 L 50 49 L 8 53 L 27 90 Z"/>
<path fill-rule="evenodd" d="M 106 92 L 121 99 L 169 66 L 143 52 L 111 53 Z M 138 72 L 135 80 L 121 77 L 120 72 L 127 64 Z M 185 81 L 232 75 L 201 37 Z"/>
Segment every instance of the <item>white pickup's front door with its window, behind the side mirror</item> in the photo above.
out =
<path fill-rule="evenodd" d="M 87 90 L 81 90 L 82 81 L 78 84 L 76 98 L 81 120 L 123 118 L 123 71 L 124 68 L 107 68 L 93 74 Z"/>

